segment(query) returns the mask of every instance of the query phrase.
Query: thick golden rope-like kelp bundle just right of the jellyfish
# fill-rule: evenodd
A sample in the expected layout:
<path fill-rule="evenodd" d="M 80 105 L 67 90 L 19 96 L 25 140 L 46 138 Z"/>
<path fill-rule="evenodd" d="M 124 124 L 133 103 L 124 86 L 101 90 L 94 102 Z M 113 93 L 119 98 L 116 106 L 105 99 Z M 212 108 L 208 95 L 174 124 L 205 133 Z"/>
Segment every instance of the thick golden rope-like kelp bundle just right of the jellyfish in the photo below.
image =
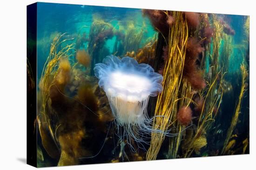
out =
<path fill-rule="evenodd" d="M 182 12 L 172 12 L 175 19 L 173 29 L 169 29 L 168 36 L 168 60 L 163 69 L 163 91 L 158 95 L 155 107 L 155 119 L 153 128 L 162 131 L 172 126 L 177 113 L 177 101 L 182 80 L 182 70 L 188 39 L 188 26 Z M 157 117 L 157 116 L 163 117 Z M 170 120 L 170 121 L 169 121 Z M 154 160 L 165 138 L 163 133 L 152 133 L 150 147 L 147 152 L 147 160 Z"/>

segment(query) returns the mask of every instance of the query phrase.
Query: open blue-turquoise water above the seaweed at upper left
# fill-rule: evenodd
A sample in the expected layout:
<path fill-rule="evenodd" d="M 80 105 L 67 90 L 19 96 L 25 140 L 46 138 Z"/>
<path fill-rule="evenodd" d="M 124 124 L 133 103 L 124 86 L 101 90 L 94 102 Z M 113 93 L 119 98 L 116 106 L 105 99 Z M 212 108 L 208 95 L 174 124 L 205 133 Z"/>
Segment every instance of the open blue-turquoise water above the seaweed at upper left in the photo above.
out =
<path fill-rule="evenodd" d="M 128 29 L 129 24 L 133 24 L 137 32 L 144 29 L 138 48 L 143 47 L 146 40 L 156 33 L 149 19 L 142 16 L 141 9 L 38 3 L 38 63 L 45 63 L 49 45 L 57 33 L 67 33 L 70 38 L 74 38 L 75 43 L 78 35 L 86 33 L 87 37 L 89 36 L 94 18 L 103 19 L 116 30 L 122 29 L 123 32 Z M 105 44 L 109 49 L 108 55 L 115 52 L 115 40 L 116 36 L 113 36 Z M 88 49 L 87 44 L 83 45 L 83 49 Z M 43 64 L 38 64 L 38 77 L 41 75 L 42 66 Z"/>

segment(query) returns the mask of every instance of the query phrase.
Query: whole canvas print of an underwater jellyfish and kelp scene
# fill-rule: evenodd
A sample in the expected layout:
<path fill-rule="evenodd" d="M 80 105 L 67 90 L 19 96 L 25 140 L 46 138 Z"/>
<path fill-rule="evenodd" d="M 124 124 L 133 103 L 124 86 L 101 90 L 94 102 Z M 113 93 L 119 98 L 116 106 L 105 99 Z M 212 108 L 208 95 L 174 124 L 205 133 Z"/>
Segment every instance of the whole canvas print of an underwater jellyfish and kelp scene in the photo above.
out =
<path fill-rule="evenodd" d="M 27 6 L 28 164 L 249 154 L 249 16 Z"/>

